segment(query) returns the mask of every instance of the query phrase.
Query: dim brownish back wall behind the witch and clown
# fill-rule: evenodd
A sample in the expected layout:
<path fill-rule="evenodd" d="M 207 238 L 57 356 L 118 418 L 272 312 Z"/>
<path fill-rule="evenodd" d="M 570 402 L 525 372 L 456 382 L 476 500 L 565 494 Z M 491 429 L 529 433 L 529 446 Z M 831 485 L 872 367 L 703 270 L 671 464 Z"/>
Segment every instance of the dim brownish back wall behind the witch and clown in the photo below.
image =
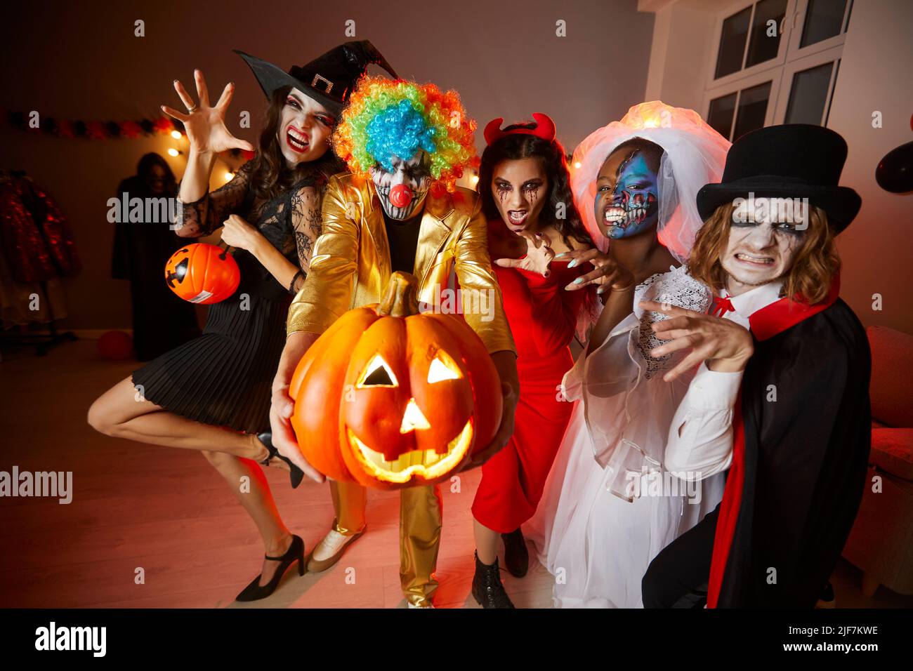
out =
<path fill-rule="evenodd" d="M 550 114 L 570 151 L 644 100 L 653 32 L 653 16 L 638 13 L 635 0 L 470 0 L 396 11 L 396 5 L 369 2 L 99 6 L 5 6 L 0 48 L 7 108 L 104 121 L 152 116 L 162 103 L 178 107 L 172 79 L 192 86 L 193 68 L 201 68 L 213 91 L 236 81 L 230 113 L 251 110 L 258 120 L 262 93 L 232 48 L 288 68 L 348 39 L 371 39 L 401 76 L 459 90 L 480 125 L 496 116 L 514 121 L 533 111 Z M 138 18 L 146 37 L 133 37 Z M 355 37 L 343 34 L 347 19 L 356 22 Z M 555 36 L 559 19 L 566 21 L 567 37 Z M 254 131 L 237 134 L 255 141 Z M 126 283 L 110 279 L 106 201 L 142 153 L 164 154 L 175 142 L 59 140 L 5 125 L 0 142 L 3 167 L 25 169 L 72 222 L 85 268 L 65 283 L 68 328 L 129 326 Z M 479 132 L 479 149 L 482 142 Z M 182 157 L 169 162 L 180 177 Z"/>

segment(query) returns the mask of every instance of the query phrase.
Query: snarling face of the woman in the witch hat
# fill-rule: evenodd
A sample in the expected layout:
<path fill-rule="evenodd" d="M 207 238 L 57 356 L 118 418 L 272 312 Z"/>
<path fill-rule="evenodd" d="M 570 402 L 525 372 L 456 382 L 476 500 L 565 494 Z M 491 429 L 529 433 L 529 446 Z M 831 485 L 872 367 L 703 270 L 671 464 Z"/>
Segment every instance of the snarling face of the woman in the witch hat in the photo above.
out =
<path fill-rule="evenodd" d="M 279 128 L 279 149 L 289 167 L 316 161 L 330 149 L 330 135 L 336 119 L 317 100 L 299 89 L 286 94 Z"/>

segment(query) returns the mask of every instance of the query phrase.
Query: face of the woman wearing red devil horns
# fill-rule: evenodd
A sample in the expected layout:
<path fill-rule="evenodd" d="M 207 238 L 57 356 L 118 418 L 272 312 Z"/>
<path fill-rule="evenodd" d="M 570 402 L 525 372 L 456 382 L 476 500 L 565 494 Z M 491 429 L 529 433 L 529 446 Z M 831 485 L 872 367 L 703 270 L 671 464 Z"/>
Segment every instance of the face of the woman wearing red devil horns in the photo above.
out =
<path fill-rule="evenodd" d="M 540 159 L 530 156 L 498 163 L 491 173 L 490 188 L 498 213 L 511 231 L 536 229 L 549 189 Z"/>

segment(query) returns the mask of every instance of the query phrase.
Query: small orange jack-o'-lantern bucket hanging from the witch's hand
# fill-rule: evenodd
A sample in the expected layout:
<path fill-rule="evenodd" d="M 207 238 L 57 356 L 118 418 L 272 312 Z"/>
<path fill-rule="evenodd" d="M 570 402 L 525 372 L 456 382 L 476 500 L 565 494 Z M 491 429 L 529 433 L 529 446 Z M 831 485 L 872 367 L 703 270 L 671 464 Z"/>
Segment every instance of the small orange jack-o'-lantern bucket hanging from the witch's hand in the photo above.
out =
<path fill-rule="evenodd" d="M 191 303 L 218 303 L 237 289 L 241 271 L 220 246 L 194 243 L 178 249 L 165 264 L 165 283 Z"/>

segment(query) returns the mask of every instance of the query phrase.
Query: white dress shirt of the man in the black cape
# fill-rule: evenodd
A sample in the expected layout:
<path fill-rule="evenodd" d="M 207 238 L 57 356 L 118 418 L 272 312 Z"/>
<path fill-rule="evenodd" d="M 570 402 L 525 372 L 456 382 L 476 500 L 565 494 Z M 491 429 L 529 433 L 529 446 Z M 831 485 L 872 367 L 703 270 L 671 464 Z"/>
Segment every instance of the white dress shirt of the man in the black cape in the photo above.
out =
<path fill-rule="evenodd" d="M 779 300 L 782 282 L 761 285 L 729 298 L 735 311 L 724 319 L 750 329 L 749 317 Z M 721 292 L 727 296 L 727 292 Z M 678 404 L 666 443 L 666 468 L 687 480 L 703 480 L 732 463 L 732 414 L 743 371 L 711 371 L 702 362 Z"/>

